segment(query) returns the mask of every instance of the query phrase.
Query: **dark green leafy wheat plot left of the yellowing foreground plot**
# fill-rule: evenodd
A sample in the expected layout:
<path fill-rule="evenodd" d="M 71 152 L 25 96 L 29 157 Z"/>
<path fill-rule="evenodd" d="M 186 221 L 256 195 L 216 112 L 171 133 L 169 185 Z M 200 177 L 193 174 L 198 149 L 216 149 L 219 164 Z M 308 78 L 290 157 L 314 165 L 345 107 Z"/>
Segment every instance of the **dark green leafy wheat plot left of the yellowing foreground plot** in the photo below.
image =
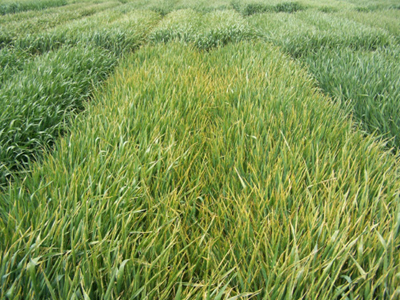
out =
<path fill-rule="evenodd" d="M 94 85 L 116 64 L 105 50 L 74 47 L 29 62 L 0 89 L 0 178 L 26 166 L 66 128 Z"/>

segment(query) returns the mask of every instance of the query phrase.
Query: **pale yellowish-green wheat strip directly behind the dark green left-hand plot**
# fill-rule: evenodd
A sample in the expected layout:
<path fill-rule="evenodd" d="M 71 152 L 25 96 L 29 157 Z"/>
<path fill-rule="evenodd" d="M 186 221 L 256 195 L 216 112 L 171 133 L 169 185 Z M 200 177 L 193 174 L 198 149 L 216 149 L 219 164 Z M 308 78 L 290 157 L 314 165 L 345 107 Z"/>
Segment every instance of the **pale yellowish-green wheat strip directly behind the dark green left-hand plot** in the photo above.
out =
<path fill-rule="evenodd" d="M 126 15 L 129 12 L 131 15 Z M 138 18 L 140 14 L 142 16 Z M 51 30 L 25 34 L 15 39 L 11 48 L 0 50 L 0 82 L 20 70 L 32 55 L 56 50 L 62 45 L 86 43 L 108 49 L 118 48 L 119 52 L 124 48 L 132 49 L 157 19 L 153 12 L 135 13 L 129 6 L 121 6 Z"/>

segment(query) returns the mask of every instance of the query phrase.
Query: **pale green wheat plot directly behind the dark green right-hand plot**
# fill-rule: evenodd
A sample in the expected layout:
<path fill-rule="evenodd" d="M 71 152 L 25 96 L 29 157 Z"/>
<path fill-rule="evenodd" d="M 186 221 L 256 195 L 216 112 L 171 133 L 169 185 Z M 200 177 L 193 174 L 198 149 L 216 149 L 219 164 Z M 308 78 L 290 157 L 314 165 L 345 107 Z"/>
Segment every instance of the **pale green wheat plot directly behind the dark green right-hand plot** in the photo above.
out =
<path fill-rule="evenodd" d="M 315 11 L 262 14 L 251 17 L 249 23 L 259 35 L 296 58 L 321 48 L 375 50 L 393 42 L 393 37 L 380 28 Z"/>

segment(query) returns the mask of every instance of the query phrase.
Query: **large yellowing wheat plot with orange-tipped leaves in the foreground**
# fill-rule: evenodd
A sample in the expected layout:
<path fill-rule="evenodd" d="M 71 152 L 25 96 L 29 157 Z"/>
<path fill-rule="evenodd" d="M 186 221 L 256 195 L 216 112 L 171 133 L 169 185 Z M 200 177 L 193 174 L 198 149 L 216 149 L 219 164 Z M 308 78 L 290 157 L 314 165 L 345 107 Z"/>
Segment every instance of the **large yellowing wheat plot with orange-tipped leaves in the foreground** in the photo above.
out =
<path fill-rule="evenodd" d="M 398 161 L 264 43 L 125 59 L 1 194 L 8 299 L 395 299 Z"/>

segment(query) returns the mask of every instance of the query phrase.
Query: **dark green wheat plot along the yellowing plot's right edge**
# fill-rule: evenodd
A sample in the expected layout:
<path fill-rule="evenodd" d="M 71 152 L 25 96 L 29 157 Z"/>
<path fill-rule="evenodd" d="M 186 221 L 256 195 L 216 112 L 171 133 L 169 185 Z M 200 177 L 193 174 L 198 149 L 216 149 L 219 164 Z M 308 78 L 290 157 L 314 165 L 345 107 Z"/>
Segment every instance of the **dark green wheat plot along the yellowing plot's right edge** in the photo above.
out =
<path fill-rule="evenodd" d="M 338 49 L 304 58 L 319 86 L 345 104 L 367 132 L 400 148 L 400 49 Z"/>

